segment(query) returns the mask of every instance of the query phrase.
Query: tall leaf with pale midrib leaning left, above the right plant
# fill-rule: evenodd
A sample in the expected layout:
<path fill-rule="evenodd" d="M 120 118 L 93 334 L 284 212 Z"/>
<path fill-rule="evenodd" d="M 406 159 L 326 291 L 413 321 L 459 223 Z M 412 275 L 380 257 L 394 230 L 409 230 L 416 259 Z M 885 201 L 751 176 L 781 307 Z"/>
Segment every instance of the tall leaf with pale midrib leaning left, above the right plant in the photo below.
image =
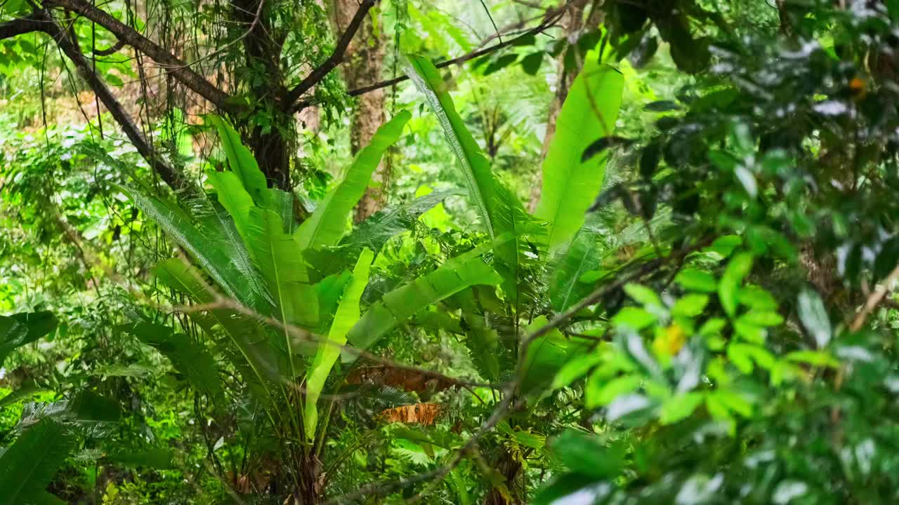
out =
<path fill-rule="evenodd" d="M 447 142 L 458 158 L 469 196 L 484 223 L 487 235 L 493 241 L 507 234 L 513 238 L 512 241 L 504 241 L 496 246 L 496 256 L 503 263 L 497 265 L 503 275 L 503 290 L 515 306 L 518 299 L 518 235 L 521 235 L 516 228 L 521 227 L 526 220 L 524 208 L 494 176 L 490 162 L 458 115 L 456 106 L 446 91 L 446 84 L 431 61 L 410 56 L 404 69 L 437 116 Z"/>

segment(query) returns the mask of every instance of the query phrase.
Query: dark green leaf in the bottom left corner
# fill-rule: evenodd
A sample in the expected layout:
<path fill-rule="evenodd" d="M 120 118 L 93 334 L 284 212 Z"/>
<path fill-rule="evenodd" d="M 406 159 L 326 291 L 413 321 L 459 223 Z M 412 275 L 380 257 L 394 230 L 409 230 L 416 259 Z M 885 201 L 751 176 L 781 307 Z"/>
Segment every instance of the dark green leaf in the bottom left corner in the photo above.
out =
<path fill-rule="evenodd" d="M 0 456 L 0 505 L 38 500 L 71 453 L 74 439 L 58 422 L 42 419 Z"/>

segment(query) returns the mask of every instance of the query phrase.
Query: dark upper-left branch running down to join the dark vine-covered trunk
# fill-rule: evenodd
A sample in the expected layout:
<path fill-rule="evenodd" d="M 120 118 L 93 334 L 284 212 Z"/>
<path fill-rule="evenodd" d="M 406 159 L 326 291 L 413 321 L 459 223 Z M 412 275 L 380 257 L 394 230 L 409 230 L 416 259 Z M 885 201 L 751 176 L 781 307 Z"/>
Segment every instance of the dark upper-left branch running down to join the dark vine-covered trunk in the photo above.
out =
<path fill-rule="evenodd" d="M 138 31 L 129 27 L 127 24 L 120 22 L 112 17 L 109 13 L 87 4 L 82 0 L 47 0 L 44 2 L 47 6 L 63 7 L 74 13 L 81 14 L 85 18 L 96 22 L 106 30 L 111 31 L 120 41 L 128 44 L 134 49 L 138 49 L 148 57 L 153 58 L 156 63 L 165 69 L 166 72 L 178 79 L 182 84 L 190 88 L 192 91 L 200 94 L 206 100 L 213 103 L 219 109 L 227 109 L 228 94 L 218 89 L 215 84 L 210 83 L 202 75 L 194 72 L 191 66 L 184 63 L 180 58 L 175 57 L 167 49 L 156 44 L 153 40 L 147 39 Z"/>

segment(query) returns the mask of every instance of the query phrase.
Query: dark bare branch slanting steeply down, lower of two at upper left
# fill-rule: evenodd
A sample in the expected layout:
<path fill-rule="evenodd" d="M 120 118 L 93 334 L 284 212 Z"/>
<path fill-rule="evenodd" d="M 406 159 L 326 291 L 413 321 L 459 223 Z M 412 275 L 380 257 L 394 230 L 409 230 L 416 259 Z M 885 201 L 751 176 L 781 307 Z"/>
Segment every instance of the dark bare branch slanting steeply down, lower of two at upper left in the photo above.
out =
<path fill-rule="evenodd" d="M 193 188 L 187 182 L 181 173 L 165 163 L 165 160 L 156 152 L 153 146 L 147 142 L 147 138 L 140 131 L 140 128 L 129 117 L 128 113 L 122 108 L 120 102 L 112 95 L 110 89 L 103 83 L 99 75 L 93 71 L 93 66 L 87 61 L 85 55 L 76 47 L 71 40 L 68 39 L 66 31 L 49 15 L 49 13 L 41 13 L 43 19 L 38 20 L 40 31 L 47 33 L 54 41 L 56 41 L 59 49 L 72 60 L 75 64 L 78 74 L 81 75 L 87 84 L 97 95 L 97 98 L 103 102 L 112 118 L 119 123 L 122 131 L 137 149 L 138 153 L 147 160 L 150 168 L 153 169 L 173 190 L 191 192 Z"/>

